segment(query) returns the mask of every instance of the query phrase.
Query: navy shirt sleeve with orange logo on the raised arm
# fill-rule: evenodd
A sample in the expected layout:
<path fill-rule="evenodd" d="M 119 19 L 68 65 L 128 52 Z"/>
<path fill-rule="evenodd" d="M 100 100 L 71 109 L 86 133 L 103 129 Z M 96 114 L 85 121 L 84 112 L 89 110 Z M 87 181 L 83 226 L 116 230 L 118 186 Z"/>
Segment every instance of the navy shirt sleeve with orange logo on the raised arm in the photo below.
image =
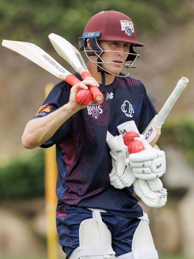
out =
<path fill-rule="evenodd" d="M 53 89 L 48 94 L 47 98 L 44 100 L 40 109 L 36 113 L 33 119 L 47 116 L 51 112 L 56 111 L 58 108 L 69 102 L 70 86 L 64 81 L 58 83 L 53 87 Z M 40 147 L 48 148 L 58 143 L 60 140 L 65 138 L 69 134 L 71 125 L 71 118 L 66 120 L 61 127 L 55 132 L 55 134 L 44 142 Z"/>

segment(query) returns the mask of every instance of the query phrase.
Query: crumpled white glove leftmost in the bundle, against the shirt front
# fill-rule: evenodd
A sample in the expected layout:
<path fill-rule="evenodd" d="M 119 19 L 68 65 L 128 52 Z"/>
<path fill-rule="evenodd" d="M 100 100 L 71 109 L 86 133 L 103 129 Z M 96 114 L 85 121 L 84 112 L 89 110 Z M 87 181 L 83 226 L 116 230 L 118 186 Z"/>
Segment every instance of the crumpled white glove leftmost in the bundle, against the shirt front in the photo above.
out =
<path fill-rule="evenodd" d="M 113 166 L 109 174 L 110 184 L 118 189 L 131 186 L 136 178 L 125 165 L 127 146 L 124 144 L 122 135 L 114 137 L 107 132 L 107 144 L 110 147 Z"/>

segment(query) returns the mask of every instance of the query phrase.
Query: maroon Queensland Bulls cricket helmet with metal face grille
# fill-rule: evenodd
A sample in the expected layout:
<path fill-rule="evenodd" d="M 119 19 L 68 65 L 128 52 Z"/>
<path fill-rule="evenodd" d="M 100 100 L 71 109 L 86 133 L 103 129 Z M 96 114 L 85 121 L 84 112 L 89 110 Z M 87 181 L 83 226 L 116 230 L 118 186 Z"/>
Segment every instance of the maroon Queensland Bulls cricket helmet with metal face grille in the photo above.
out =
<path fill-rule="evenodd" d="M 87 39 L 89 39 L 90 46 L 87 48 Z M 79 38 L 79 48 L 84 50 L 89 60 L 94 62 L 100 69 L 103 69 L 102 64 L 107 64 L 103 61 L 103 53 L 107 52 L 100 47 L 100 41 L 121 41 L 130 43 L 129 52 L 124 53 L 123 67 L 126 68 L 126 73 L 121 74 L 121 70 L 116 76 L 125 77 L 129 75 L 129 69 L 135 68 L 135 61 L 140 57 L 135 50 L 135 46 L 144 46 L 143 43 L 137 41 L 135 26 L 132 20 L 121 12 L 110 10 L 102 11 L 94 15 L 87 23 L 82 37 Z M 109 51 L 108 51 L 109 52 Z M 92 60 L 90 56 L 97 56 L 96 60 Z M 128 63 L 125 63 L 128 61 Z M 108 63 L 113 64 L 113 63 Z M 99 70 L 100 71 L 100 70 Z M 105 70 L 106 73 L 110 73 Z"/>

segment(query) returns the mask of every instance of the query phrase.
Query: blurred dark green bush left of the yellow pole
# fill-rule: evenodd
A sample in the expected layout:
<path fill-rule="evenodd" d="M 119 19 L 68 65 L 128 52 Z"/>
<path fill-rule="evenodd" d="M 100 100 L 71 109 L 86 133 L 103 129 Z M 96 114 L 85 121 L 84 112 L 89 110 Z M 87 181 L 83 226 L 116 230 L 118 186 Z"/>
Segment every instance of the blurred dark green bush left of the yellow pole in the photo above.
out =
<path fill-rule="evenodd" d="M 44 196 L 44 152 L 30 159 L 13 159 L 0 168 L 0 200 Z"/>

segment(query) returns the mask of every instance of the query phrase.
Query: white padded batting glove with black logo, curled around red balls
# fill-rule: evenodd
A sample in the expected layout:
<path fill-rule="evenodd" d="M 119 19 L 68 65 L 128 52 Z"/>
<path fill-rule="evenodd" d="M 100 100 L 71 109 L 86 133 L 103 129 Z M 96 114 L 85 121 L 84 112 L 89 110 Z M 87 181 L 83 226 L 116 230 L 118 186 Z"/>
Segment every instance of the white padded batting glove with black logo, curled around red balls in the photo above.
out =
<path fill-rule="evenodd" d="M 134 138 L 143 143 L 145 150 L 129 155 L 125 164 L 130 167 L 133 175 L 142 180 L 161 177 L 166 171 L 165 152 L 151 147 L 143 138 Z"/>

